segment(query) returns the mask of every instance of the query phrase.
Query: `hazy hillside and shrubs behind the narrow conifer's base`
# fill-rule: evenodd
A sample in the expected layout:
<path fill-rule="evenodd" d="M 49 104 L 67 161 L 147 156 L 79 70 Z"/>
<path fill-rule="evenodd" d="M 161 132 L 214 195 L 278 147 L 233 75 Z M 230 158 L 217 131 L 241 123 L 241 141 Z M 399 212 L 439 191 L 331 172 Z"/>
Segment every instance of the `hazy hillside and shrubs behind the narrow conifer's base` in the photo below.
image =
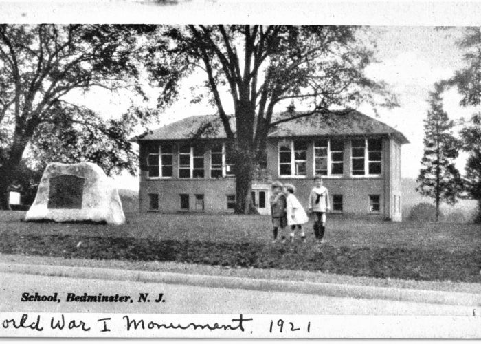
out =
<path fill-rule="evenodd" d="M 403 178 L 403 218 L 407 219 L 410 215 L 412 206 L 416 204 L 427 202 L 434 204 L 434 200 L 429 197 L 423 197 L 416 192 L 416 180 L 414 178 Z M 462 213 L 465 219 L 471 219 L 476 211 L 476 201 L 473 200 L 459 200 L 454 206 L 441 204 L 441 213 L 449 217 L 453 213 Z"/>

